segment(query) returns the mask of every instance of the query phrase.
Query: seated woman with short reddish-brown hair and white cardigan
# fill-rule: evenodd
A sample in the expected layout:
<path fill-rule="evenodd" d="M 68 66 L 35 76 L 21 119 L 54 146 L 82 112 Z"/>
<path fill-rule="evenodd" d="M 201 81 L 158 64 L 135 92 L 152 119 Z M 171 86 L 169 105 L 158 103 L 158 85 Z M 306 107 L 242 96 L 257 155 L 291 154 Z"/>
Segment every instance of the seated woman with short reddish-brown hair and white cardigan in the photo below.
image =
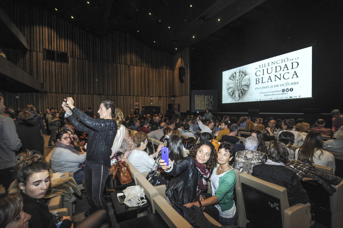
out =
<path fill-rule="evenodd" d="M 144 132 L 139 131 L 132 138 L 137 146 L 131 151 L 128 160 L 138 171 L 149 172 L 155 164 L 154 157 L 156 157 L 158 152 L 156 151 L 152 155 L 149 155 L 144 151 L 148 144 L 148 137 Z"/>

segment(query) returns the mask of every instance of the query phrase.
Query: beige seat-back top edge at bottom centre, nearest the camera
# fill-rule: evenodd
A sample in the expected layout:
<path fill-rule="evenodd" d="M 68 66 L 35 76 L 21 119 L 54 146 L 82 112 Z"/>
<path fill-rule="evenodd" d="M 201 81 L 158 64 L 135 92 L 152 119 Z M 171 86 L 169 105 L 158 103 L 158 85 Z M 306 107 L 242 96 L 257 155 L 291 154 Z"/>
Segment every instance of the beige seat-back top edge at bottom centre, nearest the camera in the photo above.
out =
<path fill-rule="evenodd" d="M 161 195 L 155 196 L 153 201 L 156 211 L 170 228 L 192 228 L 188 221 L 177 213 Z"/>

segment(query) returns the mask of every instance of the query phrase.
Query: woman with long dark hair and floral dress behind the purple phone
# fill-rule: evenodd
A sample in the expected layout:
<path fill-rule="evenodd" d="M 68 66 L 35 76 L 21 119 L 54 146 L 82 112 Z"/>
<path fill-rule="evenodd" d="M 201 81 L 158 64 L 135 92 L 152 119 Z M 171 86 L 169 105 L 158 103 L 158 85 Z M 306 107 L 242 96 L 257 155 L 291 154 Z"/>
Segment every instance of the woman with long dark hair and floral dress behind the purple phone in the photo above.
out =
<path fill-rule="evenodd" d="M 170 129 L 171 130 L 171 129 Z M 155 164 L 152 167 L 152 170 L 146 176 L 146 179 L 154 186 L 168 184 L 168 181 L 173 179 L 173 176 L 168 175 L 164 172 L 161 166 L 158 163 L 158 160 L 161 159 L 161 147 L 163 144 L 159 145 L 157 148 L 158 155 L 156 156 Z M 169 138 L 167 147 L 169 150 L 169 158 L 173 164 L 179 163 L 184 159 L 184 145 L 179 136 L 173 135 Z"/>

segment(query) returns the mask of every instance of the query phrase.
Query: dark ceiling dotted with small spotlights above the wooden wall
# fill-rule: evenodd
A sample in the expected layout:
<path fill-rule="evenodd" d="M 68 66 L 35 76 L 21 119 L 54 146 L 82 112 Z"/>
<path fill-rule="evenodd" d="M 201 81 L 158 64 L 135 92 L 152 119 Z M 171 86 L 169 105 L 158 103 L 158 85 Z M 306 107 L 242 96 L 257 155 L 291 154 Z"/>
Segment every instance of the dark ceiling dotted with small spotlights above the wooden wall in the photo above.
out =
<path fill-rule="evenodd" d="M 155 50 L 174 54 L 264 1 L 26 0 L 25 3 L 40 5 L 97 37 L 122 31 Z M 209 19 L 199 20 L 202 15 Z"/>

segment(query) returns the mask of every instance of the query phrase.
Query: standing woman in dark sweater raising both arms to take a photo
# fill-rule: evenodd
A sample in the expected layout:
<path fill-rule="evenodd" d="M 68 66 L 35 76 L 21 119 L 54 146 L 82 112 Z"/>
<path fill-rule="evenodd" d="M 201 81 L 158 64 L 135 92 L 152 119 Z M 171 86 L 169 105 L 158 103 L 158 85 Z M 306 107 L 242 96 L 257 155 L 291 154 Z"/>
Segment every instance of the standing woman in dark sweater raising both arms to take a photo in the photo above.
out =
<path fill-rule="evenodd" d="M 68 117 L 74 128 L 88 134 L 87 155 L 83 172 L 85 192 L 91 213 L 98 209 L 108 211 L 103 192 L 110 168 L 111 148 L 117 134 L 117 123 L 114 120 L 116 107 L 112 101 L 103 101 L 98 110 L 100 119 L 91 118 L 76 108 L 71 97 L 67 97 L 67 102 L 63 101 L 62 107 L 66 111 L 65 117 Z"/>

